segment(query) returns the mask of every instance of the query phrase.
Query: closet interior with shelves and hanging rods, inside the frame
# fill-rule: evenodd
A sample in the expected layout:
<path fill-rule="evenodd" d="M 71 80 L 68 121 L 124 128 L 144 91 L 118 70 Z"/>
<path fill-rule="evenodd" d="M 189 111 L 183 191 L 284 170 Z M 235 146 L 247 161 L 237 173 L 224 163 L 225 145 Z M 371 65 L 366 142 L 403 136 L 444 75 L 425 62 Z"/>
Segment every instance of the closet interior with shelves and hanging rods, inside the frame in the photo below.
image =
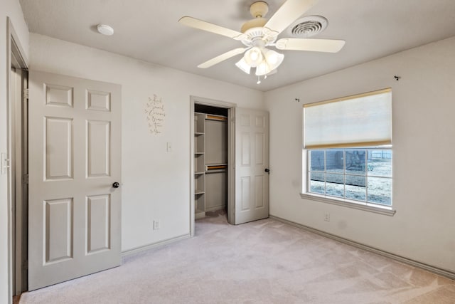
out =
<path fill-rule="evenodd" d="M 228 109 L 194 105 L 195 219 L 228 209 Z"/>

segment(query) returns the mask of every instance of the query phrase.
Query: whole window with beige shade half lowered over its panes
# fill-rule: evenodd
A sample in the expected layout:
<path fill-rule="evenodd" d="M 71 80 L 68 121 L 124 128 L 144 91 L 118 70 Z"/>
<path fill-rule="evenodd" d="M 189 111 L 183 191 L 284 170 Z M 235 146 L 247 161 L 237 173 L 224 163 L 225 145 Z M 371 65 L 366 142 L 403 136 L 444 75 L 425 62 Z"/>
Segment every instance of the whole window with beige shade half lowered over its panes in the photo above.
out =
<path fill-rule="evenodd" d="M 304 193 L 392 206 L 390 89 L 304 105 Z"/>

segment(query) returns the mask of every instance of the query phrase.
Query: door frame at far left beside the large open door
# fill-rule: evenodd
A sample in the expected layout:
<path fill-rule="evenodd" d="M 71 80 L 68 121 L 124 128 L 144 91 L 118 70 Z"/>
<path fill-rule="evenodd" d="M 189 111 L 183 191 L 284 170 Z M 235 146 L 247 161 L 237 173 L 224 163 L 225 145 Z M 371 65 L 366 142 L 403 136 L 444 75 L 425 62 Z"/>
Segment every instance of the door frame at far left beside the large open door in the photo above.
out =
<path fill-rule="evenodd" d="M 11 19 L 6 20 L 6 67 L 8 77 L 6 78 L 6 104 L 7 104 L 7 150 L 9 157 L 8 173 L 8 292 L 11 303 L 14 295 L 20 295 L 26 286 L 26 259 L 27 248 L 27 216 L 23 210 L 27 205 L 27 184 L 23 183 L 23 172 L 26 169 L 27 147 L 27 108 L 26 88 L 28 83 L 28 63 L 25 52 L 21 46 L 18 35 L 14 30 Z M 21 70 L 20 90 L 11 92 L 10 78 L 12 68 Z M 18 113 L 20 111 L 20 114 Z M 18 117 L 18 120 L 16 120 Z M 24 163 L 25 161 L 25 163 Z M 24 180 L 26 182 L 26 180 Z M 25 282 L 25 283 L 24 283 Z"/>

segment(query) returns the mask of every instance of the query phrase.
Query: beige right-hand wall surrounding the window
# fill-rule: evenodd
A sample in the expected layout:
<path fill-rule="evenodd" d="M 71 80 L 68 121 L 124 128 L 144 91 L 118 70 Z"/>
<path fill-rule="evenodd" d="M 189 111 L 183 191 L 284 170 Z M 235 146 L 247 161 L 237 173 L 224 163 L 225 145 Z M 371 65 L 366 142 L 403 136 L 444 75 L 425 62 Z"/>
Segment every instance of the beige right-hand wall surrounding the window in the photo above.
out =
<path fill-rule="evenodd" d="M 267 92 L 270 214 L 455 271 L 454 71 L 455 37 Z M 302 104 L 389 87 L 395 216 L 301 199 Z"/>

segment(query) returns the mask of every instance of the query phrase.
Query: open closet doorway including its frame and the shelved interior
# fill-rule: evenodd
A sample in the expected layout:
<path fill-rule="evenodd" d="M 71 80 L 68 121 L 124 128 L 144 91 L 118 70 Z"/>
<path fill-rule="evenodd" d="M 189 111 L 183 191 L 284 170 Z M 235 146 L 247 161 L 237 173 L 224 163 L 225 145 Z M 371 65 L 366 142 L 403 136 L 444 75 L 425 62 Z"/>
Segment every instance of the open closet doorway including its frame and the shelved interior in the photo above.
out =
<path fill-rule="evenodd" d="M 235 104 L 191 97 L 191 235 L 209 214 L 232 220 Z"/>

